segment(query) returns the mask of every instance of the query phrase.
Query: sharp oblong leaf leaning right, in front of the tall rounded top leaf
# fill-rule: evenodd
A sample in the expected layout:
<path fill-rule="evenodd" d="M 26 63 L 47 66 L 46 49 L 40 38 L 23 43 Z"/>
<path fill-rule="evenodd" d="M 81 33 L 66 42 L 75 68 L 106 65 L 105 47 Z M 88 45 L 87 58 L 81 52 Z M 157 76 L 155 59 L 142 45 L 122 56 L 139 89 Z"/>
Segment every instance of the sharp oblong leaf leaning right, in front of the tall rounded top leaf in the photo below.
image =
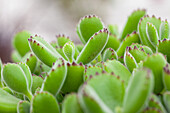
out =
<path fill-rule="evenodd" d="M 105 28 L 95 33 L 80 52 L 76 62 L 82 62 L 83 64 L 90 63 L 102 52 L 108 41 L 108 37 L 108 31 Z"/>

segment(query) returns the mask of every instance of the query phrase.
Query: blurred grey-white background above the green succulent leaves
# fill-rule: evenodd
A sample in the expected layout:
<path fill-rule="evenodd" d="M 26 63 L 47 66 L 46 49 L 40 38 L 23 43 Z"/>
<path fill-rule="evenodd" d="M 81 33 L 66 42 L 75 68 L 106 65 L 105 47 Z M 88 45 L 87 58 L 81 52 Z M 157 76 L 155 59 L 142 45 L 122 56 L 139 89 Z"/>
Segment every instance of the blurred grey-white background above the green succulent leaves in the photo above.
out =
<path fill-rule="evenodd" d="M 0 58 L 10 61 L 11 39 L 18 31 L 28 30 L 48 42 L 64 33 L 81 43 L 75 28 L 84 15 L 96 14 L 105 26 L 117 24 L 121 32 L 127 16 L 138 8 L 170 19 L 170 0 L 0 0 Z"/>

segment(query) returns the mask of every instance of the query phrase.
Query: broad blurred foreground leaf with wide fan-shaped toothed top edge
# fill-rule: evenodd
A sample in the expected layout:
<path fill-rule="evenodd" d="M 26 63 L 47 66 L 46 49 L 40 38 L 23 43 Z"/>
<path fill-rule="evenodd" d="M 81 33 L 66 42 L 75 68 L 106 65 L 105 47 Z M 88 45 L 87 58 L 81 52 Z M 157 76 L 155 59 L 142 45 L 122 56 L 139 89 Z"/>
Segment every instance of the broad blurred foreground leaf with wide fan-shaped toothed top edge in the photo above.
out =
<path fill-rule="evenodd" d="M 93 98 L 105 113 L 122 106 L 124 93 L 124 83 L 110 74 L 96 76 L 83 87 L 83 94 Z"/>

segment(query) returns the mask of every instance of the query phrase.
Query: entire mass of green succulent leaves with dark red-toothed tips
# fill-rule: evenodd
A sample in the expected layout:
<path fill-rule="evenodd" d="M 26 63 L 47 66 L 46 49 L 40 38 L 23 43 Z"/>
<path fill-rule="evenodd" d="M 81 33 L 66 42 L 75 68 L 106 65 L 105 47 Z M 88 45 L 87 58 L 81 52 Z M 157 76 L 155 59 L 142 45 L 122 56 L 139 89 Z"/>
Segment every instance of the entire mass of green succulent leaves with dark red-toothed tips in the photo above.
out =
<path fill-rule="evenodd" d="M 0 113 L 170 112 L 167 20 L 138 9 L 119 34 L 88 15 L 77 34 L 83 44 L 16 33 L 14 63 L 0 60 Z"/>

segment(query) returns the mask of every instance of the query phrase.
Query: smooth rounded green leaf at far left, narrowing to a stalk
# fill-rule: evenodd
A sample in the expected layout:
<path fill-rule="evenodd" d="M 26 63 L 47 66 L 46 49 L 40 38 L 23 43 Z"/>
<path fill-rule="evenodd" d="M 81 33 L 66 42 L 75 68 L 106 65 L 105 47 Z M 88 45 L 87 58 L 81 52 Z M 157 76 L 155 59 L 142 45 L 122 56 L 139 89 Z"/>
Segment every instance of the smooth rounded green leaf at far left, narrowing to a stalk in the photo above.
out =
<path fill-rule="evenodd" d="M 32 98 L 30 91 L 32 77 L 29 67 L 26 64 L 6 64 L 2 70 L 2 77 L 9 88 L 25 94 L 29 99 Z"/>

